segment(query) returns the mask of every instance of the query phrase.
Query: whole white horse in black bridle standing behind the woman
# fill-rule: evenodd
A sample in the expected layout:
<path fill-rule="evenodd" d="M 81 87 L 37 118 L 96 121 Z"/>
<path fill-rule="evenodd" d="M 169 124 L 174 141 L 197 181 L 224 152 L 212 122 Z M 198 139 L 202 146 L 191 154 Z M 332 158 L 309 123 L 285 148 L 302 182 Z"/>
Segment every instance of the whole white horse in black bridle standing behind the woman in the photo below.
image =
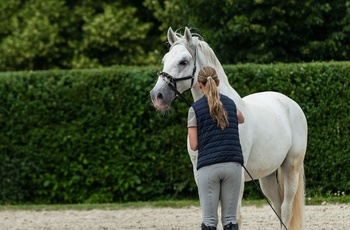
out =
<path fill-rule="evenodd" d="M 168 29 L 169 52 L 163 57 L 163 71 L 151 90 L 151 100 L 158 110 L 167 110 L 171 101 L 191 89 L 194 101 L 203 95 L 198 88 L 197 74 L 204 66 L 212 66 L 220 78 L 220 93 L 232 98 L 245 117 L 239 126 L 245 167 L 259 179 L 266 197 L 280 217 L 281 229 L 303 229 L 304 216 L 304 157 L 307 146 L 307 121 L 299 105 L 277 92 L 261 92 L 241 98 L 230 86 L 214 51 L 198 35 L 186 27 L 184 35 Z M 171 86 L 171 87 L 169 87 Z M 177 93 L 174 92 L 177 91 Z M 197 154 L 188 146 L 197 183 Z M 243 169 L 242 169 L 243 170 Z M 237 210 L 241 224 L 240 202 Z"/>

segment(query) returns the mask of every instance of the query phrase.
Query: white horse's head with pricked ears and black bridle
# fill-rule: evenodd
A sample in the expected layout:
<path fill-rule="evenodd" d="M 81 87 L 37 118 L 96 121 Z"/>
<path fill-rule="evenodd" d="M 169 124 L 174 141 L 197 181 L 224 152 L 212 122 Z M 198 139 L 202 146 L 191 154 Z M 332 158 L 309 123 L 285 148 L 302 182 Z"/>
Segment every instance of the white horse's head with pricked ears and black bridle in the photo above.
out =
<path fill-rule="evenodd" d="M 163 57 L 163 70 L 150 92 L 152 103 L 158 110 L 168 109 L 178 93 L 193 87 L 197 70 L 196 47 L 190 30 L 186 27 L 181 36 L 169 28 L 167 36 L 171 47 Z"/>

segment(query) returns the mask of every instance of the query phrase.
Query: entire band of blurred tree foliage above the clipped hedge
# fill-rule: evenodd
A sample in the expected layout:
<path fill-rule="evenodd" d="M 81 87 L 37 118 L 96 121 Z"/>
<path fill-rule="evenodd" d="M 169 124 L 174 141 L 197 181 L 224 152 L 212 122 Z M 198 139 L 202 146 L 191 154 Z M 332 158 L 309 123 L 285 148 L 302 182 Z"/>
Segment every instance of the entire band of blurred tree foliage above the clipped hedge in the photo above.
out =
<path fill-rule="evenodd" d="M 149 65 L 188 26 L 223 64 L 350 59 L 345 0 L 1 1 L 0 70 Z"/>

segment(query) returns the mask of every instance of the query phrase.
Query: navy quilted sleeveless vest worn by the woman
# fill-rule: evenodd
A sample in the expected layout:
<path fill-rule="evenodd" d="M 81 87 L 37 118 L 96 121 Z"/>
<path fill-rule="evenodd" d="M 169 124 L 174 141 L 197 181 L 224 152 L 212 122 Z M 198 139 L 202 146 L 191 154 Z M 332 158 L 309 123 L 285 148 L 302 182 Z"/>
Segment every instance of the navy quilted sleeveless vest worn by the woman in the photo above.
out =
<path fill-rule="evenodd" d="M 243 165 L 243 155 L 238 134 L 236 104 L 229 97 L 220 94 L 220 100 L 227 111 L 229 125 L 222 130 L 209 113 L 206 96 L 193 103 L 197 118 L 198 161 L 201 167 L 223 162 L 238 162 Z"/>

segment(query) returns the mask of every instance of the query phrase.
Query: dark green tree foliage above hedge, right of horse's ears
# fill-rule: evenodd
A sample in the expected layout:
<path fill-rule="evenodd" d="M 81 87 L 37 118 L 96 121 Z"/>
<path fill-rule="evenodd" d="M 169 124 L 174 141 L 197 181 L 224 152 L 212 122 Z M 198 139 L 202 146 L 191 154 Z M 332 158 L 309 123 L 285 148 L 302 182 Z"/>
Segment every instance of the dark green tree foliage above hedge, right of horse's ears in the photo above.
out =
<path fill-rule="evenodd" d="M 164 11 L 173 12 L 174 18 L 167 19 L 161 28 L 164 29 L 166 24 L 171 25 L 171 21 L 175 25 L 194 27 L 223 63 L 350 58 L 349 1 L 165 2 L 168 4 L 164 4 Z M 183 10 L 182 13 L 178 8 Z M 184 17 L 178 19 L 179 14 Z"/>

